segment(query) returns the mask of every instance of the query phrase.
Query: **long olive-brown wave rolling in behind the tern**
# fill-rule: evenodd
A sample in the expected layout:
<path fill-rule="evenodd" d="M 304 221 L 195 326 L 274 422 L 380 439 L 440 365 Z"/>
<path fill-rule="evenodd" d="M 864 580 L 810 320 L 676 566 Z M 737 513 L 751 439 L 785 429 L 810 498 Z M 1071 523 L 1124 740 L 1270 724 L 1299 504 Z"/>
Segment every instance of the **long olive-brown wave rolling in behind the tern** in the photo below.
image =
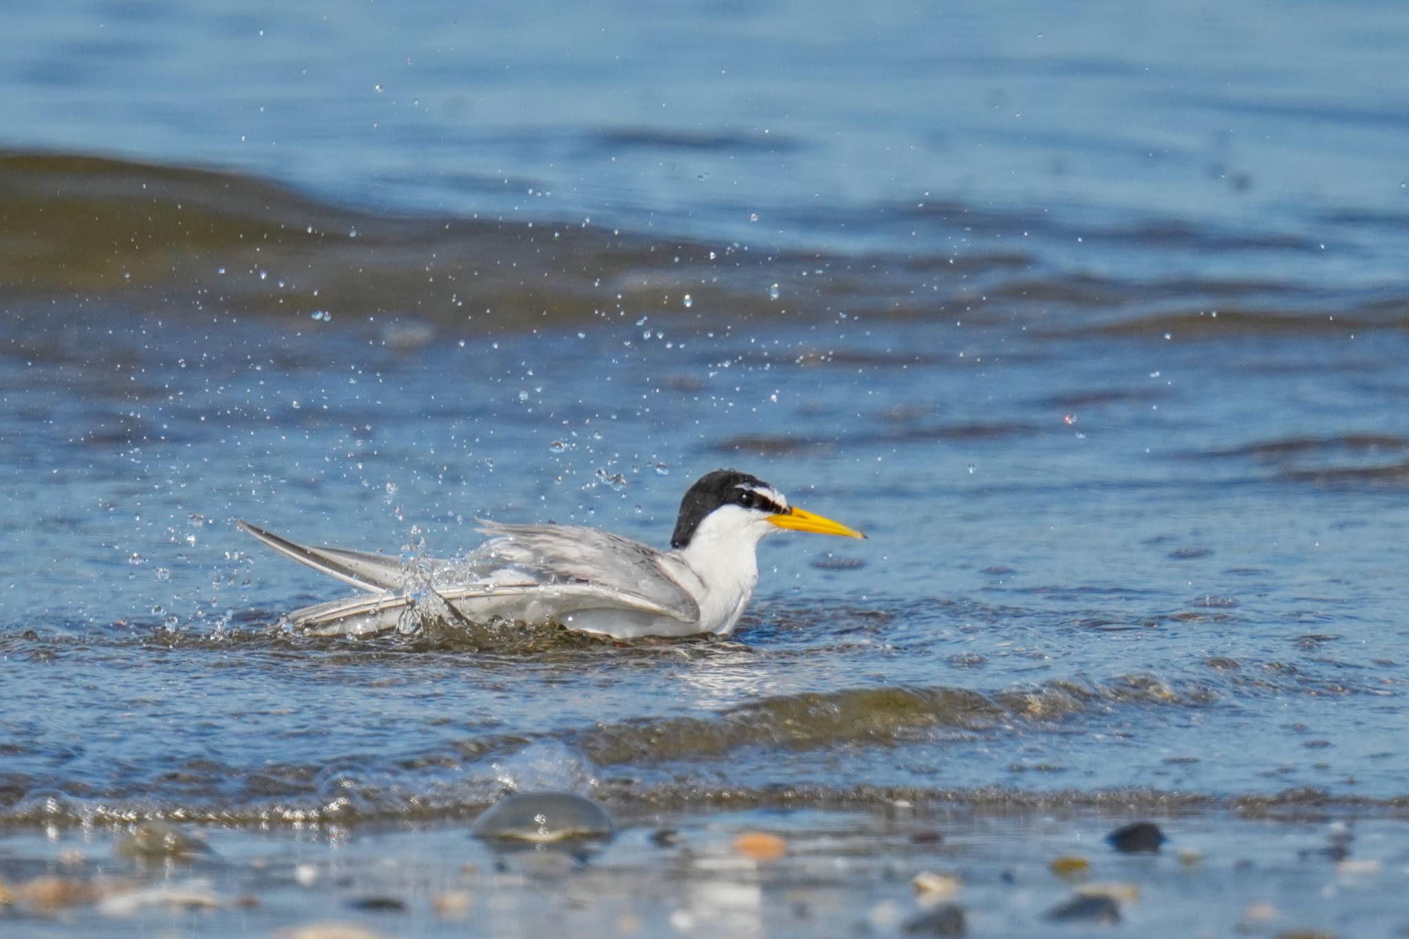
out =
<path fill-rule="evenodd" d="M 606 134 L 650 148 L 745 145 L 712 135 Z M 403 345 L 430 342 L 451 325 L 523 331 L 616 321 L 627 311 L 633 320 L 648 311 L 700 328 L 837 311 L 872 320 L 948 320 L 962 311 L 965 324 L 1020 322 L 1054 335 L 1409 328 L 1409 297 L 1384 289 L 1316 290 L 1212 272 L 1167 280 L 1092 273 L 1061 260 L 1074 229 L 1051 214 L 958 201 L 799 220 L 805 229 L 834 231 L 844 221 L 857 232 L 817 251 L 706 244 L 589 218 L 372 211 L 218 169 L 75 153 L 0 152 L 0 300 L 20 314 L 48 311 L 38 301 L 66 297 L 77 301 L 75 313 L 258 314 L 299 324 L 318 314 L 373 318 L 378 328 L 402 318 L 410 322 L 390 341 Z M 929 237 L 906 239 L 912 246 L 903 252 L 878 251 L 864 235 L 876 224 L 923 224 Z M 1144 242 L 1184 255 L 1233 248 L 1285 255 L 1309 244 L 1186 222 L 1086 220 L 1081 231 L 1092 242 Z M 1033 238 L 1013 251 L 1013 239 L 983 239 L 988 245 L 972 241 L 975 232 Z M 954 249 L 957 238 L 962 251 Z M 845 355 L 821 351 L 816 360 L 845 365 Z"/>

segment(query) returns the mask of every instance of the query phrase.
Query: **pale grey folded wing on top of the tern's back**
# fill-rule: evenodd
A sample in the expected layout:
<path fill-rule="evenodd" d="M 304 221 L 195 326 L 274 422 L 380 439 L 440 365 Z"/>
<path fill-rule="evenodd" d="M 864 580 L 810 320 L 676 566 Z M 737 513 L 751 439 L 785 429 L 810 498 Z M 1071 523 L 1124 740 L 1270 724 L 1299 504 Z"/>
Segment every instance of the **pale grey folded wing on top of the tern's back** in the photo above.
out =
<path fill-rule="evenodd" d="M 699 619 L 695 597 L 661 566 L 661 552 L 630 538 L 585 525 L 502 525 L 482 522 L 492 535 L 469 560 L 493 559 L 548 581 L 586 581 L 640 597 L 683 622 Z"/>

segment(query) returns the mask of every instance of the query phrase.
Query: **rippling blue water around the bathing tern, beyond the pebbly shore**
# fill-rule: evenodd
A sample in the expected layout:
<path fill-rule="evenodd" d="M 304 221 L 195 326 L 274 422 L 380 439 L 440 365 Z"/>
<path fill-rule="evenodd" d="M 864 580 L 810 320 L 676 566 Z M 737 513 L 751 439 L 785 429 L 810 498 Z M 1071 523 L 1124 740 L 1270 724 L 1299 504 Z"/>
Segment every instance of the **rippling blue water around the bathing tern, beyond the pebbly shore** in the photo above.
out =
<path fill-rule="evenodd" d="M 1409 11 L 0 10 L 0 819 L 1409 797 Z M 664 543 L 734 641 L 311 641 L 238 534 Z"/>

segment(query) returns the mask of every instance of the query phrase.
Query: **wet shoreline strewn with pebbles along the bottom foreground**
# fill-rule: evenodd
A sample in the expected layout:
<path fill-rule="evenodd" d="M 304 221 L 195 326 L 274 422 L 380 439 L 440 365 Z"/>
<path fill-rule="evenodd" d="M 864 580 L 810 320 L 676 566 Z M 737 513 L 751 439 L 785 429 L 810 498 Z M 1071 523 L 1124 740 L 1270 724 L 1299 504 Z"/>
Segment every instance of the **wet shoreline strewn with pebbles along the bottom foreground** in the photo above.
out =
<path fill-rule="evenodd" d="M 1405 935 L 1409 819 L 885 809 L 614 812 L 502 849 L 469 819 L 0 835 L 6 936 Z M 1167 842 L 1123 853 L 1148 819 Z M 134 833 L 135 832 L 135 833 Z"/>

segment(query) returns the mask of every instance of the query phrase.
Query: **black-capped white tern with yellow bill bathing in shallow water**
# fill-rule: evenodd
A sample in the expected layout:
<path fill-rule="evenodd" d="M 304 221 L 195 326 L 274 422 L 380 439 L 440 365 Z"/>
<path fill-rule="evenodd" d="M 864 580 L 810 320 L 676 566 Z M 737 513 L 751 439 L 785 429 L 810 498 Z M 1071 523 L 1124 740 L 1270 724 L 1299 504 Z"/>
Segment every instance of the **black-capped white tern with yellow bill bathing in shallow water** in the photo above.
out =
<path fill-rule="evenodd" d="M 790 529 L 865 538 L 789 505 L 774 486 L 733 469 L 706 473 L 689 487 L 668 550 L 585 525 L 478 524 L 489 536 L 479 548 L 451 559 L 406 560 L 309 548 L 244 519 L 238 528 L 364 590 L 287 614 L 302 632 L 355 636 L 414 629 L 414 617 L 426 614 L 462 625 L 559 625 L 613 639 L 727 636 L 758 583 L 764 535 Z"/>

